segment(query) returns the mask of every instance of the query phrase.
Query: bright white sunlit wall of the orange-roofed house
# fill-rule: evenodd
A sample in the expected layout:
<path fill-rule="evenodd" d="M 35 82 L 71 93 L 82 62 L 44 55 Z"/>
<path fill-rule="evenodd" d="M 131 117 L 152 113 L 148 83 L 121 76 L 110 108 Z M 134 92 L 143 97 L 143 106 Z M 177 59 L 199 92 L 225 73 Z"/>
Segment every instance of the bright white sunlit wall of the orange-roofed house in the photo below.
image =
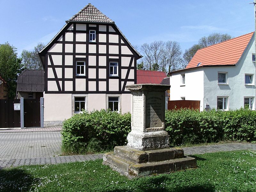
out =
<path fill-rule="evenodd" d="M 185 86 L 181 84 L 181 75 L 185 73 Z M 170 99 L 200 100 L 200 111 L 203 110 L 204 98 L 204 71 L 202 68 L 185 70 L 170 77 Z"/>

